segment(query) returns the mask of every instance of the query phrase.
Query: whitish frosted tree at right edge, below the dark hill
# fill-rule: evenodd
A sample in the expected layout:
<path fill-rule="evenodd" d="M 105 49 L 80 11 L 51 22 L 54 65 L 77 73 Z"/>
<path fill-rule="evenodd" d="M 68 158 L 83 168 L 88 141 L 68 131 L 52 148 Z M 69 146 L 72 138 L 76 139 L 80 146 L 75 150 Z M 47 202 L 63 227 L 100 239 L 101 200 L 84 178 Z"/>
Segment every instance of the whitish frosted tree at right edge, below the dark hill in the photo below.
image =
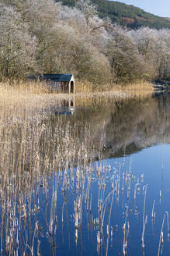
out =
<path fill-rule="evenodd" d="M 138 52 L 144 56 L 147 73 L 152 77 L 165 78 L 169 66 L 169 30 L 154 30 L 148 27 L 131 31 Z"/>

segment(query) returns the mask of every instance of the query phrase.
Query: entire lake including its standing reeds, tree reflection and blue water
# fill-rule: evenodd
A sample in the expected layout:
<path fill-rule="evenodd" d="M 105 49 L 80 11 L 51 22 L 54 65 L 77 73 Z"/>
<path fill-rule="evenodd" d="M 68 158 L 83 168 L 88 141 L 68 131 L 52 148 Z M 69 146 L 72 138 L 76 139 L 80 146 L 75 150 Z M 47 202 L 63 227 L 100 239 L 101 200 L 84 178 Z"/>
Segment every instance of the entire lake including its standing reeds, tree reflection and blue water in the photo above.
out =
<path fill-rule="evenodd" d="M 19 115 L 0 123 L 2 255 L 169 255 L 168 94 Z"/>

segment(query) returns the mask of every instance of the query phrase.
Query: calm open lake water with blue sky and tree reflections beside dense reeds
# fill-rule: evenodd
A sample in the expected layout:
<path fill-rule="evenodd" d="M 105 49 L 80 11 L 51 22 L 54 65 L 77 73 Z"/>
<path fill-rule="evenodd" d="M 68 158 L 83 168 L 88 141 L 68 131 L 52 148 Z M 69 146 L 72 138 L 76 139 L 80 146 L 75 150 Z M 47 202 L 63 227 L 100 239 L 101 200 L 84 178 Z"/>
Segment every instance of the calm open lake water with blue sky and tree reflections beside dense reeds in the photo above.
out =
<path fill-rule="evenodd" d="M 35 177 L 34 190 L 23 193 L 29 214 L 16 213 L 11 254 L 169 255 L 170 97 L 64 105 L 52 110 L 50 125 L 80 123 L 75 139 L 86 141 L 88 160 Z"/>

